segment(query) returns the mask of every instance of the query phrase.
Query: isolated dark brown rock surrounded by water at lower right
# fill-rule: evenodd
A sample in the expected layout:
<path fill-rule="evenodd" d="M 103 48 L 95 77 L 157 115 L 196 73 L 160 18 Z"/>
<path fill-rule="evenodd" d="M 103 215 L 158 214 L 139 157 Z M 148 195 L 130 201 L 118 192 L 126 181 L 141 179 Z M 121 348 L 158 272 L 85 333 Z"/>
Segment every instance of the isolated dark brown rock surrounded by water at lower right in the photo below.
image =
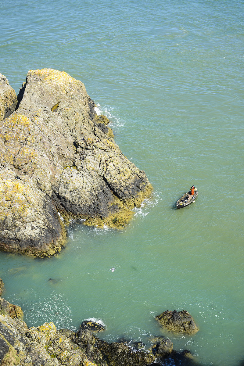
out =
<path fill-rule="evenodd" d="M 192 316 L 186 310 L 172 311 L 166 310 L 164 313 L 155 317 L 162 328 L 171 332 L 195 334 L 198 332 L 198 328 L 192 318 Z"/>

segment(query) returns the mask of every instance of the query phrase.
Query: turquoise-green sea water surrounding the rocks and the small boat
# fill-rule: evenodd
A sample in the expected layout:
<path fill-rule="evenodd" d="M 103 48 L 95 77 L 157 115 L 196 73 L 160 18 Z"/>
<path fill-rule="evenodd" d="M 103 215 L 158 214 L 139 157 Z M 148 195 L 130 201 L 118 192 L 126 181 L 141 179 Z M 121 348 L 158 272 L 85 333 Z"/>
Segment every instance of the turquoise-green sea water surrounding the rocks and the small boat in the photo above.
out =
<path fill-rule="evenodd" d="M 154 187 L 122 232 L 72 223 L 56 257 L 0 253 L 4 298 L 22 307 L 28 325 L 78 329 L 96 318 L 105 339 L 147 345 L 150 335 L 166 335 L 154 315 L 185 309 L 199 332 L 168 335 L 174 349 L 206 365 L 240 365 L 243 1 L 0 4 L 0 72 L 16 93 L 30 69 L 81 80 Z M 196 202 L 176 210 L 192 184 Z"/>

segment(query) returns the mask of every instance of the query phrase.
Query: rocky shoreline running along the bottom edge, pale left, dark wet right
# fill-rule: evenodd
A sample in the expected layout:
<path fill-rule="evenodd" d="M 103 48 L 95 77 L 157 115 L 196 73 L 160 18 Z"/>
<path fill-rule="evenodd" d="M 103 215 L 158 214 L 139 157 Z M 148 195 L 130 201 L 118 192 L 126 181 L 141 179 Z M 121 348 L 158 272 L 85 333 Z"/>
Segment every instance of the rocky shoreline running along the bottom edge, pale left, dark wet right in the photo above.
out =
<path fill-rule="evenodd" d="M 2 366 L 160 366 L 172 362 L 200 366 L 191 352 L 175 351 L 170 339 L 162 335 L 151 337 L 151 347 L 146 350 L 141 341 L 100 339 L 97 333 L 105 328 L 91 321 L 84 321 L 74 332 L 57 330 L 52 322 L 28 328 L 23 318 L 19 306 L 0 298 Z"/>

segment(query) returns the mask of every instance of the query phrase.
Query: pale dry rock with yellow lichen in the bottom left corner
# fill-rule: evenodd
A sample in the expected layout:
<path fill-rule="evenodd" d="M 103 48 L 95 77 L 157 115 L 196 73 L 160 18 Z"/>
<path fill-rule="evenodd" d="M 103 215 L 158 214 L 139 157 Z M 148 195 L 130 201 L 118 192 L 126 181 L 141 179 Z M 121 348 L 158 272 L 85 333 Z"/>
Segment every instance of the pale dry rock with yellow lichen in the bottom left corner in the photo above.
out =
<path fill-rule="evenodd" d="M 52 322 L 28 329 L 24 321 L 0 315 L 0 348 L 3 365 L 97 366 Z"/>

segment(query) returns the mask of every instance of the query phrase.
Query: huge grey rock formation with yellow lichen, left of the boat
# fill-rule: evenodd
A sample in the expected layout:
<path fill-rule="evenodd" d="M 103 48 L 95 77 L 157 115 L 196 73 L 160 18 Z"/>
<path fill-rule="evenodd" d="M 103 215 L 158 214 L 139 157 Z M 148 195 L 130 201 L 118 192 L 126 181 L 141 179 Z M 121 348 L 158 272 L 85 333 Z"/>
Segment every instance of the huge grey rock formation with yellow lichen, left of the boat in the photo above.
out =
<path fill-rule="evenodd" d="M 62 217 L 127 224 L 152 187 L 121 153 L 83 83 L 30 70 L 18 99 L 0 129 L 0 249 L 55 254 L 66 238 Z"/>

